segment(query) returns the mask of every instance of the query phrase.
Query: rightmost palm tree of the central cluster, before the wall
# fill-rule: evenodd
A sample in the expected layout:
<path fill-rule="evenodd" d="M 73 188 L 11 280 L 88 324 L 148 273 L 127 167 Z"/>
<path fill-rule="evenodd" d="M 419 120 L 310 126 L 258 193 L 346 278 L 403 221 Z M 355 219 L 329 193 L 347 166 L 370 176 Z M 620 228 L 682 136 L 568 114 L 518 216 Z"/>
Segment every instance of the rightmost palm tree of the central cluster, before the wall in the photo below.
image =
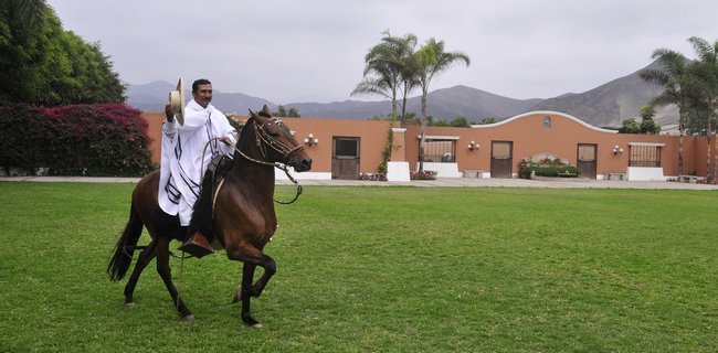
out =
<path fill-rule="evenodd" d="M 426 128 L 426 115 L 429 96 L 429 86 L 432 78 L 437 74 L 448 69 L 457 62 L 463 62 L 466 66 L 471 61 L 468 55 L 461 52 L 444 51 L 444 41 L 436 41 L 431 38 L 422 47 L 416 51 L 411 61 L 410 67 L 414 72 L 418 86 L 421 87 L 421 142 L 419 147 L 419 171 L 424 171 L 424 129 Z"/>

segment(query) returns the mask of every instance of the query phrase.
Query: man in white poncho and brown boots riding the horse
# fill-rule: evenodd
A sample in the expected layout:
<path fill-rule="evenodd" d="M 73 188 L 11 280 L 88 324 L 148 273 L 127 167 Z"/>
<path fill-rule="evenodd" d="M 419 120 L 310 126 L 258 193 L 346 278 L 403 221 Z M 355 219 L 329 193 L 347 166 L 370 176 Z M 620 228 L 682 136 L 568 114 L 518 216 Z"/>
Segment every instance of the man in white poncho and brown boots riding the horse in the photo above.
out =
<path fill-rule="evenodd" d="M 224 114 L 210 104 L 212 83 L 204 78 L 194 81 L 192 97 L 184 107 L 181 125 L 176 122 L 170 105 L 165 106 L 167 119 L 162 122 L 158 195 L 162 212 L 156 213 L 155 222 L 158 232 L 161 232 L 162 228 L 170 228 L 177 222 L 175 216 L 178 216 L 180 226 L 187 229 L 186 240 L 179 249 L 202 257 L 214 250 L 211 246 L 213 236 L 203 225 L 207 220 L 200 221 L 193 216 L 201 211 L 207 212 L 196 208 L 211 207 L 211 204 L 200 202 L 200 192 L 203 192 L 200 175 L 204 175 L 215 157 L 233 156 L 236 130 Z M 209 212 L 211 215 L 211 210 Z"/>

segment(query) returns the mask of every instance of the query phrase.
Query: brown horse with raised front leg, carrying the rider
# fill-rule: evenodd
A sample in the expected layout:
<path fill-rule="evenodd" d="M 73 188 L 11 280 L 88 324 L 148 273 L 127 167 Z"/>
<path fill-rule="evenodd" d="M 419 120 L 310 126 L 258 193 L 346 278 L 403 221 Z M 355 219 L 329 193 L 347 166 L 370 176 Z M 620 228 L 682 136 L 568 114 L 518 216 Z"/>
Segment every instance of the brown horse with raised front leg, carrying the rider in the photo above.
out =
<path fill-rule="evenodd" d="M 251 117 L 242 128 L 236 143 L 232 168 L 223 186 L 214 196 L 212 231 L 215 247 L 226 249 L 229 259 L 244 263 L 235 301 L 242 301 L 242 320 L 249 325 L 260 328 L 261 324 L 252 318 L 250 299 L 262 293 L 276 271 L 274 260 L 262 252 L 277 227 L 273 203 L 274 169 L 291 165 L 297 172 L 307 171 L 312 168 L 312 159 L 297 143 L 286 125 L 270 116 L 266 106 L 260 114 L 252 110 L 250 114 Z M 172 239 L 184 239 L 186 228 L 181 228 L 176 218 L 169 228 L 166 225 L 160 226 L 156 221 L 156 213 L 161 212 L 158 211 L 158 170 L 137 183 L 133 192 L 129 221 L 117 242 L 107 266 L 107 274 L 112 280 L 125 277 L 144 225 L 151 240 L 140 253 L 125 286 L 125 304 L 135 304 L 133 292 L 137 280 L 149 261 L 157 257 L 157 271 L 165 281 L 175 307 L 183 320 L 193 320 L 194 317 L 172 284 L 169 267 L 169 244 Z M 252 284 L 256 266 L 263 267 L 264 274 Z"/>

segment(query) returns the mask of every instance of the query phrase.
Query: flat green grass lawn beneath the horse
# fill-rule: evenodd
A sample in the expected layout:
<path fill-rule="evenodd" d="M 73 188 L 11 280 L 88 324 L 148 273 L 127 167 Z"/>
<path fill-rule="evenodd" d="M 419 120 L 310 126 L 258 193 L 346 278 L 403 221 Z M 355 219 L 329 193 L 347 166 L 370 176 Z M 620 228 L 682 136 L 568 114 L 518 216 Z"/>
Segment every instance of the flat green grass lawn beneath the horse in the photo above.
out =
<path fill-rule="evenodd" d="M 223 253 L 172 259 L 194 322 L 154 265 L 123 306 L 131 190 L 0 183 L 0 352 L 718 351 L 717 192 L 306 186 L 253 330 Z"/>

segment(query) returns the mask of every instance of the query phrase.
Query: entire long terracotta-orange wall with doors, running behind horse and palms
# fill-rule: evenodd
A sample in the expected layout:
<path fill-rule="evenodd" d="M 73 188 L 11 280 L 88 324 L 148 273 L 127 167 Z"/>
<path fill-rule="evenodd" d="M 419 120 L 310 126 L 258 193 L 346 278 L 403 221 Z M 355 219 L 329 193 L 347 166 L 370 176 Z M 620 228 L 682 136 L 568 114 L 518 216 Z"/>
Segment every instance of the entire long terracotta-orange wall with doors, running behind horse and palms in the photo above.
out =
<path fill-rule="evenodd" d="M 145 113 L 144 117 L 149 122 L 149 135 L 154 139 L 151 145 L 152 158 L 159 161 L 161 142 L 161 121 L 163 114 Z M 543 127 L 543 119 L 551 118 L 551 126 Z M 297 141 L 303 142 L 314 133 L 319 140 L 317 145 L 305 146 L 314 159 L 313 172 L 331 172 L 332 139 L 335 137 L 359 137 L 360 161 L 359 169 L 362 173 L 377 172 L 382 161 L 381 151 L 387 143 L 391 124 L 377 120 L 340 120 L 340 119 L 312 119 L 312 118 L 283 118 L 285 124 L 295 132 Z M 403 143 L 399 143 L 392 152 L 393 161 L 403 158 L 408 161 L 410 170 L 415 170 L 419 160 L 420 127 L 410 126 L 403 136 Z M 678 137 L 655 135 L 625 135 L 614 131 L 598 129 L 583 124 L 571 116 L 555 111 L 534 111 L 520 115 L 501 122 L 475 126 L 475 128 L 427 127 L 430 136 L 457 137 L 456 163 L 458 170 L 490 170 L 492 141 L 514 142 L 514 172 L 522 158 L 537 153 L 551 153 L 566 159 L 576 165 L 577 149 L 579 143 L 594 143 L 596 149 L 596 173 L 621 172 L 629 167 L 630 142 L 665 143 L 662 148 L 662 167 L 665 175 L 678 174 Z M 475 141 L 479 148 L 469 151 L 467 145 Z M 613 147 L 619 146 L 623 153 L 614 154 Z M 696 171 L 698 175 L 706 175 L 706 139 L 705 137 L 684 138 L 684 173 Z M 402 152 L 402 153 L 399 153 Z M 403 154 L 403 156 L 402 156 Z"/>

